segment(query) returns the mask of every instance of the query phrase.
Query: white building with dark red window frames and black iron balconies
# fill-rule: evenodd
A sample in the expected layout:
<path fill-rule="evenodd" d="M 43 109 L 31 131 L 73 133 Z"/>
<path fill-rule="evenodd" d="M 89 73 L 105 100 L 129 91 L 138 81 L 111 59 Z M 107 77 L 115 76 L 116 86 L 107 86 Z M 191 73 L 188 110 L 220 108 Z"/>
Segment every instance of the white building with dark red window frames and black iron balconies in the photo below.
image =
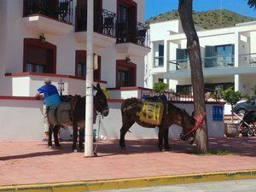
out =
<path fill-rule="evenodd" d="M 86 0 L 0 1 L 0 96 L 34 96 L 45 77 L 85 93 Z M 143 86 L 144 0 L 94 1 L 95 81 Z"/>

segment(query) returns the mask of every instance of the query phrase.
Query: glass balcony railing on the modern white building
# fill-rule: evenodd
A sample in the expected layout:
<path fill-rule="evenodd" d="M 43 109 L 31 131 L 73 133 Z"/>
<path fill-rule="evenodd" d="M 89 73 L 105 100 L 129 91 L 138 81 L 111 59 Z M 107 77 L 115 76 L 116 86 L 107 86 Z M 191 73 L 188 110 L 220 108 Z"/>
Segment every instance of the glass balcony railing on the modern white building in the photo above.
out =
<path fill-rule="evenodd" d="M 227 56 L 212 56 L 212 57 L 204 57 L 201 59 L 202 66 L 204 68 L 211 68 L 211 67 L 234 67 L 234 55 L 227 55 Z M 172 65 L 176 65 L 172 67 Z M 189 65 L 189 58 L 182 59 L 182 60 L 173 60 L 169 61 L 169 71 L 175 70 L 190 70 Z"/>

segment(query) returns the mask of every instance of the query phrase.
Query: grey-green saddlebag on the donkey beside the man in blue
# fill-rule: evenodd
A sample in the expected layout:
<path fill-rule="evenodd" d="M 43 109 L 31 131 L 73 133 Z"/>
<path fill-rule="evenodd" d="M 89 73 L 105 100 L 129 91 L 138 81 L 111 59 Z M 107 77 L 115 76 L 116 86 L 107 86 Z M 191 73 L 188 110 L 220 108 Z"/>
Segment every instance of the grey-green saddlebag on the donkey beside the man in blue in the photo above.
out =
<path fill-rule="evenodd" d="M 70 123 L 71 103 L 61 102 L 49 108 L 49 123 L 54 125 Z"/>

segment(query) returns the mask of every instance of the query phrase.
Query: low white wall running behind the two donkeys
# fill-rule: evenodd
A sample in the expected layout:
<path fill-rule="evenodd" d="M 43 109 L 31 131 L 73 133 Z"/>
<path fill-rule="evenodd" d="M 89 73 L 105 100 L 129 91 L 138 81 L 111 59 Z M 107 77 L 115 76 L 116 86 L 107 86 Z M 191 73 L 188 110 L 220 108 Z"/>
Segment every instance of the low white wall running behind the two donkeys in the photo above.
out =
<path fill-rule="evenodd" d="M 110 112 L 108 117 L 102 119 L 101 134 L 119 139 L 121 128 L 120 102 L 108 102 Z M 40 140 L 44 138 L 44 124 L 42 114 L 42 101 L 0 100 L 0 140 Z M 212 105 L 207 104 L 207 125 L 209 137 L 224 137 L 224 122 L 212 121 Z M 188 113 L 193 110 L 193 104 L 177 104 L 179 108 L 185 108 Z M 10 116 L 11 114 L 11 116 Z M 11 118 L 10 118 L 11 117 Z M 98 120 L 96 120 L 98 123 Z M 94 125 L 96 129 L 98 125 Z M 61 130 L 61 137 L 69 139 L 71 130 Z M 173 125 L 169 131 L 169 137 L 178 138 L 181 128 Z M 158 128 L 142 128 L 135 124 L 131 127 L 131 133 L 126 134 L 128 139 L 157 138 Z"/>

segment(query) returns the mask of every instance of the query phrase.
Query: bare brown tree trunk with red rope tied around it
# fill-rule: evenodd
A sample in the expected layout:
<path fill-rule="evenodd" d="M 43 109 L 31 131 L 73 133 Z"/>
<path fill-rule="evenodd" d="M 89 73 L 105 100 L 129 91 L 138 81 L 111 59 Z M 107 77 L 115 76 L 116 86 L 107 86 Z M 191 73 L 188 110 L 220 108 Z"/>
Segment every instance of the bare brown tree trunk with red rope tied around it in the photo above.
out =
<path fill-rule="evenodd" d="M 206 112 L 205 84 L 202 73 L 200 44 L 192 17 L 192 3 L 193 0 L 179 0 L 178 12 L 183 26 L 183 32 L 187 37 L 195 117 L 201 118 L 203 113 Z M 206 154 L 208 152 L 207 118 L 204 119 L 203 124 L 196 131 L 195 141 L 197 152 Z"/>

